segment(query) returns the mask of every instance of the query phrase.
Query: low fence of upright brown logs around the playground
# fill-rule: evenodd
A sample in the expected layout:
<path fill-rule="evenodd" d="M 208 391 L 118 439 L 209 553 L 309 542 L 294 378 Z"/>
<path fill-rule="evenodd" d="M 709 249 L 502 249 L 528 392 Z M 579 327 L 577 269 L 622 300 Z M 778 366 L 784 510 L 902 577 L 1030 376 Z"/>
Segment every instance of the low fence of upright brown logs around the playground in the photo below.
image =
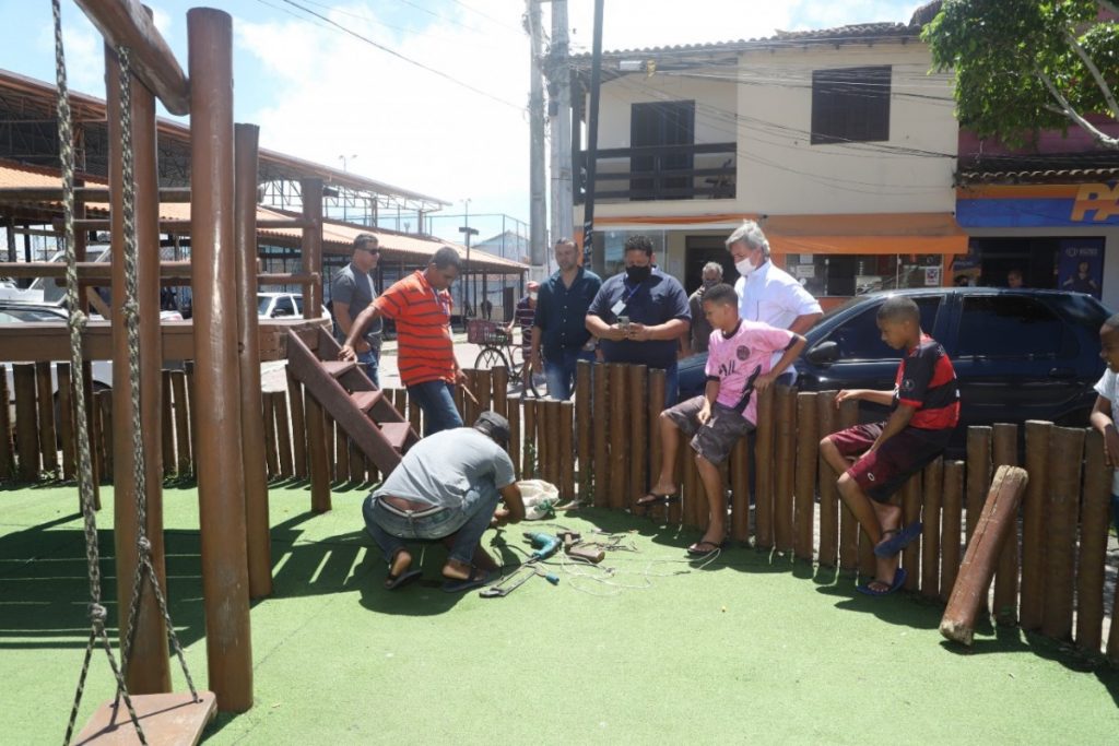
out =
<path fill-rule="evenodd" d="M 2 374 L 2 366 L 0 366 Z M 580 363 L 575 400 L 520 399 L 507 395 L 504 368 L 468 371 L 479 403 L 458 405 L 468 424 L 482 409 L 506 414 L 513 432 L 509 453 L 523 479 L 540 478 L 564 499 L 623 510 L 646 493 L 648 474 L 659 468 L 659 403 L 664 371 L 643 366 Z M 69 380 L 58 363 L 60 383 Z M 0 480 L 35 480 L 43 472 L 74 475 L 74 427 L 68 386 L 56 403 L 48 363 L 13 366 L 15 422 L 0 407 Z M 422 415 L 404 389 L 386 391 L 417 432 Z M 194 380 L 186 370 L 164 370 L 162 461 L 168 476 L 194 473 L 196 437 L 191 422 Z M 308 476 L 307 409 L 303 387 L 288 379 L 285 391 L 265 391 L 266 468 L 273 480 Z M 0 397 L 7 379 L 0 375 Z M 759 397 L 759 427 L 751 442 L 756 473 L 751 479 L 751 442 L 739 442 L 726 466 L 731 489 L 731 538 L 775 550 L 821 567 L 872 575 L 874 555 L 835 489 L 836 474 L 819 455 L 828 433 L 858 419 L 857 403 L 834 406 L 834 393 L 777 387 Z M 328 453 L 336 484 L 369 484 L 376 470 L 328 419 Z M 91 406 L 91 432 L 97 474 L 112 478 L 112 393 L 97 391 Z M 1025 466 L 1029 484 L 1018 531 L 1012 532 L 995 576 L 990 611 L 1000 624 L 1018 624 L 1084 651 L 1102 645 L 1104 566 L 1111 471 L 1100 435 L 1091 429 L 1025 425 Z M 62 444 L 62 447 L 56 445 Z M 909 570 L 905 588 L 947 602 L 966 544 L 971 538 L 994 469 L 1017 464 L 1016 425 L 971 427 L 966 461 L 938 459 L 895 495 L 905 522 L 921 519 L 920 540 L 902 554 Z M 59 459 L 59 453 L 62 457 Z M 650 471 L 651 470 L 651 471 Z M 706 502 L 693 459 L 681 444 L 677 469 L 681 501 L 669 523 L 703 528 Z M 751 508 L 751 484 L 754 499 Z M 1112 610 L 1112 615 L 1116 610 Z M 1119 625 L 1112 624 L 1108 657 L 1119 663 Z"/>

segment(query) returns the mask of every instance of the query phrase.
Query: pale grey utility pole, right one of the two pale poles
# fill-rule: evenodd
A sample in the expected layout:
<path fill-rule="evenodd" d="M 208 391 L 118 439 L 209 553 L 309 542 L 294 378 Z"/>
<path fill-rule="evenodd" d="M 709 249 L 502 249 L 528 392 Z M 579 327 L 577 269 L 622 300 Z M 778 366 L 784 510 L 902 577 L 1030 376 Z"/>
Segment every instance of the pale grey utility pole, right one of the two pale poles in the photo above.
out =
<path fill-rule="evenodd" d="M 552 0 L 548 117 L 552 124 L 552 243 L 575 227 L 571 170 L 571 65 L 567 60 L 567 0 Z"/>

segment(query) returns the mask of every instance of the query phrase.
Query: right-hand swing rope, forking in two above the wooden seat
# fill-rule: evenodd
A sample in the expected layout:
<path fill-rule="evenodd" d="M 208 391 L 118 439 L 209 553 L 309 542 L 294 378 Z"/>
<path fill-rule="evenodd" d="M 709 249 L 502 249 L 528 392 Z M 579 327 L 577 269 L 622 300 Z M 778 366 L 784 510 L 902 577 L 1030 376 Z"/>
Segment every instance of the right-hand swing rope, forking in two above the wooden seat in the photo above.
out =
<path fill-rule="evenodd" d="M 137 271 L 137 259 L 139 249 L 137 246 L 135 230 L 135 173 L 134 153 L 132 150 L 132 67 L 131 54 L 128 47 L 117 47 L 116 56 L 120 59 L 121 68 L 121 162 L 122 162 L 122 197 L 123 206 L 121 215 L 124 230 L 124 303 L 123 321 L 128 332 L 129 348 L 129 388 L 131 389 L 130 414 L 132 416 L 132 481 L 135 489 L 137 509 L 137 569 L 132 578 L 132 604 L 129 608 L 129 622 L 125 627 L 124 651 L 121 655 L 123 665 L 128 667 L 129 657 L 132 653 L 132 645 L 135 641 L 137 620 L 140 614 L 140 602 L 143 596 L 144 578 L 151 584 L 152 593 L 159 604 L 159 611 L 163 616 L 167 626 L 167 634 L 170 635 L 171 646 L 182 667 L 182 673 L 190 688 L 190 696 L 197 702 L 198 691 L 195 689 L 194 679 L 190 677 L 190 669 L 187 667 L 186 655 L 179 644 L 179 636 L 175 632 L 175 624 L 167 608 L 167 598 L 159 585 L 159 576 L 151 561 L 151 541 L 148 539 L 148 475 L 143 447 L 143 423 L 140 421 L 140 303 L 139 303 L 139 273 Z"/>

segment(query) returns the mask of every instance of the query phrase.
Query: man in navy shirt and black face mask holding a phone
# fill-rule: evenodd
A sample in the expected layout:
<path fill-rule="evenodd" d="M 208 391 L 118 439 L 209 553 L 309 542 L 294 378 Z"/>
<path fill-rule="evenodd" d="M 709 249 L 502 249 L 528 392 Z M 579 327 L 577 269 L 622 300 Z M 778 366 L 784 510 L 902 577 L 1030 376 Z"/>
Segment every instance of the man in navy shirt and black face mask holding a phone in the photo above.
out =
<path fill-rule="evenodd" d="M 676 404 L 676 350 L 692 324 L 688 294 L 652 264 L 648 236 L 626 240 L 626 272 L 605 280 L 586 312 L 606 362 L 632 362 L 665 371 L 665 406 Z"/>

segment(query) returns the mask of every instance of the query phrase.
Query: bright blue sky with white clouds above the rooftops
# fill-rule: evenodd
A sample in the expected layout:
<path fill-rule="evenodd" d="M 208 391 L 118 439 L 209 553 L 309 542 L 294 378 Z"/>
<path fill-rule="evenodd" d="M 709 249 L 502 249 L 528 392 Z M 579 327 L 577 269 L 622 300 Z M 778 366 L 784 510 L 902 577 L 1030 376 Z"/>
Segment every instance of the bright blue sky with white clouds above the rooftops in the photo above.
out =
<path fill-rule="evenodd" d="M 345 155 L 351 171 L 454 202 L 448 213 L 461 213 L 461 200 L 469 198 L 472 214 L 527 219 L 529 72 L 521 0 L 298 0 L 302 9 L 285 0 L 147 4 L 184 67 L 187 10 L 208 4 L 234 17 L 236 117 L 261 125 L 263 147 L 336 168 Z M 687 12 L 680 12 L 681 3 L 669 0 L 605 0 L 604 46 L 695 44 L 768 36 L 774 29 L 908 21 L 920 4 L 692 0 Z M 547 28 L 547 3 L 544 8 Z M 589 51 L 593 0 L 568 0 L 568 8 L 573 51 Z M 73 0 L 64 0 L 63 20 L 70 86 L 103 97 L 100 37 Z M 53 81 L 51 34 L 46 0 L 0 0 L 0 68 Z M 497 221 L 490 232 L 499 229 Z"/>

